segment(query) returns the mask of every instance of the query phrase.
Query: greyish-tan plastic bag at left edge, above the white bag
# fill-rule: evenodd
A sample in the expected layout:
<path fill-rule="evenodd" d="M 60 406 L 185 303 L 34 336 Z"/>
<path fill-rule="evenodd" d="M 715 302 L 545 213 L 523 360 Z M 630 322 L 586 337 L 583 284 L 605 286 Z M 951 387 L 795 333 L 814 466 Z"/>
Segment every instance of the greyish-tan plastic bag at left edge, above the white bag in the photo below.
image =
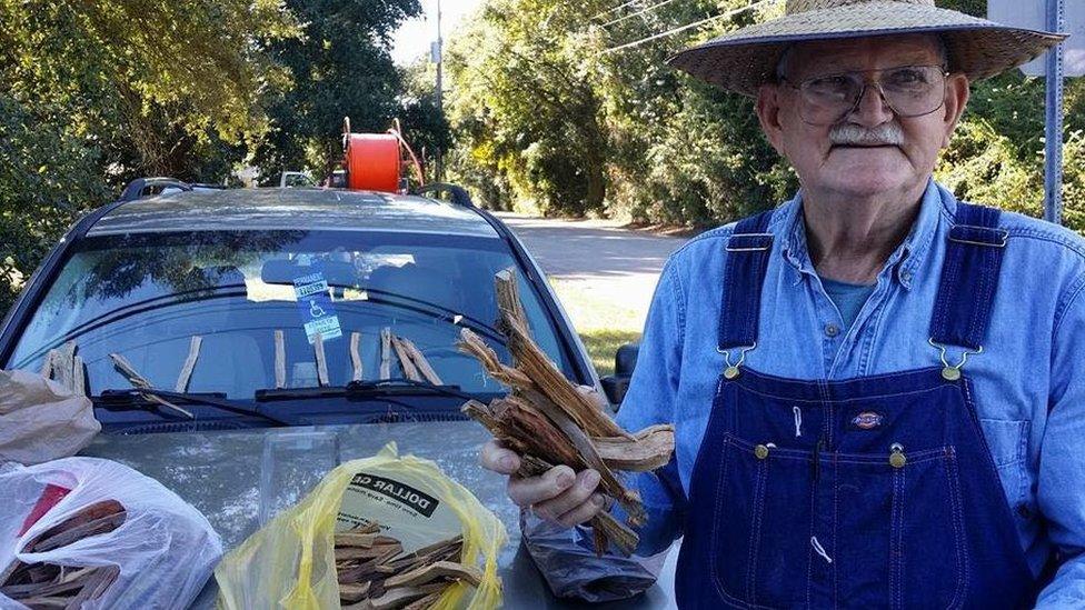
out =
<path fill-rule="evenodd" d="M 0 462 L 74 456 L 99 431 L 89 398 L 40 374 L 0 371 Z"/>

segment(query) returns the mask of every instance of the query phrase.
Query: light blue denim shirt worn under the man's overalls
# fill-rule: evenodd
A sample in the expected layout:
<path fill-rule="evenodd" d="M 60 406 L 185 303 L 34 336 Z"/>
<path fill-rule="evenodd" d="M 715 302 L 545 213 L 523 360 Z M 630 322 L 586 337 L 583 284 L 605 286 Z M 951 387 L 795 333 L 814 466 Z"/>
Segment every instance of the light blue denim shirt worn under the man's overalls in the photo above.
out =
<path fill-rule="evenodd" d="M 954 196 L 928 184 L 917 220 L 886 261 L 854 324 L 826 294 L 810 262 L 802 193 L 773 214 L 776 236 L 762 297 L 760 334 L 745 364 L 763 373 L 839 380 L 940 366 L 927 343 Z M 963 368 L 975 387 L 981 424 L 1029 564 L 1039 572 L 1052 546 L 1065 563 L 1041 607 L 1085 604 L 1085 240 L 1055 224 L 1003 213 L 1009 238 L 984 352 Z M 618 420 L 629 430 L 674 422 L 678 481 L 636 479 L 649 522 L 638 556 L 666 551 L 681 536 L 688 494 L 724 358 L 716 351 L 726 238 L 733 224 L 703 233 L 667 262 L 653 298 L 639 360 Z M 962 348 L 947 359 L 959 361 Z M 669 486 L 668 486 L 669 483 Z M 680 487 L 680 489 L 679 489 Z M 588 578 L 633 577 L 628 562 L 605 567 L 570 550 L 569 537 L 526 523 L 551 587 L 585 594 Z M 544 531 L 538 528 L 538 531 Z M 563 550 L 564 547 L 564 550 Z M 574 556 L 576 559 L 574 560 Z M 641 562 L 643 564 L 644 562 Z M 643 571 L 643 569 L 641 569 Z M 650 569 L 658 571 L 658 561 Z M 623 574 L 623 572 L 629 572 Z M 631 582 L 629 578 L 626 582 Z M 646 582 L 646 580 L 641 580 Z M 630 591 L 631 592 L 631 591 Z M 597 597 L 597 596 L 587 596 Z M 598 599 L 598 598 L 597 598 Z"/>

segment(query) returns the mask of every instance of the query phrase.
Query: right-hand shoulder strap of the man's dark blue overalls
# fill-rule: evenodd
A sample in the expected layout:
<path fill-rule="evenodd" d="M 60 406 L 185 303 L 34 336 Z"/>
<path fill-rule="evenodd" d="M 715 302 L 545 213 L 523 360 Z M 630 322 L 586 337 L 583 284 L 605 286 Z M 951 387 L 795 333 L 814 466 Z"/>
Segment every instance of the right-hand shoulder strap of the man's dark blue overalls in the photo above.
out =
<path fill-rule="evenodd" d="M 998 228 L 1001 213 L 995 208 L 957 203 L 930 317 L 932 341 L 983 348 L 1009 236 Z"/>

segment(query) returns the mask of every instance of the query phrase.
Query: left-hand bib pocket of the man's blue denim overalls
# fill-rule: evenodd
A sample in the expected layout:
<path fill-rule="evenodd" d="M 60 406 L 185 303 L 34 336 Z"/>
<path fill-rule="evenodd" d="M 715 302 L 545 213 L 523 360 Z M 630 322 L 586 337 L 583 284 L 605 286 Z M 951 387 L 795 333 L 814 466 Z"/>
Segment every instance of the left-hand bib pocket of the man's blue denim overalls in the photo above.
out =
<path fill-rule="evenodd" d="M 724 438 L 708 567 L 724 599 L 743 607 L 805 604 L 810 459 L 805 451 Z"/>

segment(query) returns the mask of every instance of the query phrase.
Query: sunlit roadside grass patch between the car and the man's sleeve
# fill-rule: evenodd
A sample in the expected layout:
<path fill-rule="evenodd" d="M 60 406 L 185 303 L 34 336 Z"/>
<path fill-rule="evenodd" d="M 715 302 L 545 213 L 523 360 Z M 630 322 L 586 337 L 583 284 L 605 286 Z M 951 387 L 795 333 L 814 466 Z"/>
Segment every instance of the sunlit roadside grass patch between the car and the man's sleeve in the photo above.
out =
<path fill-rule="evenodd" d="M 599 377 L 614 373 L 614 352 L 640 339 L 644 321 L 636 310 L 615 304 L 587 287 L 583 280 L 547 278 L 561 307 L 573 319 Z"/>

